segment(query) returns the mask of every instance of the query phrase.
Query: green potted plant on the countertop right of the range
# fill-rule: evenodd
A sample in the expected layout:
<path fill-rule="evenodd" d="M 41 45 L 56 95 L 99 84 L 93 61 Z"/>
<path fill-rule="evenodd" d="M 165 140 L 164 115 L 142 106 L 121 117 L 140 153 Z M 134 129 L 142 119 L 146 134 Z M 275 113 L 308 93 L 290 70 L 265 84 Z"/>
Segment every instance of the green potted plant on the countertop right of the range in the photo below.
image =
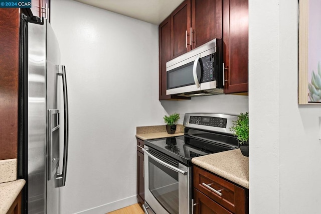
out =
<path fill-rule="evenodd" d="M 249 113 L 241 113 L 236 121 L 233 121 L 230 131 L 237 137 L 240 149 L 244 156 L 249 156 Z"/>

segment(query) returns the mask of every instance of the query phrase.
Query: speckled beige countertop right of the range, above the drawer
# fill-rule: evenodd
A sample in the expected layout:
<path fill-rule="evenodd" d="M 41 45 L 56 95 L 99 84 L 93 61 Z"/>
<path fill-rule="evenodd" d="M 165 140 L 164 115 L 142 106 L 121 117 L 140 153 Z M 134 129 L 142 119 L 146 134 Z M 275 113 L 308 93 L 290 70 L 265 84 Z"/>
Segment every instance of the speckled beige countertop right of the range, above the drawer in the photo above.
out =
<path fill-rule="evenodd" d="M 249 158 L 240 149 L 196 157 L 192 163 L 249 188 Z"/>

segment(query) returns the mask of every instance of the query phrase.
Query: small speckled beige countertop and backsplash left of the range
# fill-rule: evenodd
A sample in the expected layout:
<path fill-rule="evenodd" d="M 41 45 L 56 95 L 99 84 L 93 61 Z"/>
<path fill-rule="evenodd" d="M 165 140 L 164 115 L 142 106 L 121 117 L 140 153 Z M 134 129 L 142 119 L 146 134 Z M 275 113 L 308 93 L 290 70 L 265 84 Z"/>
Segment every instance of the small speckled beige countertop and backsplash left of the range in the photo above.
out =
<path fill-rule="evenodd" d="M 145 127 L 136 127 L 136 138 L 141 140 L 150 140 L 157 138 L 168 138 L 184 135 L 184 126 L 177 125 L 175 134 L 168 134 L 166 132 L 166 126 L 145 126 Z"/>

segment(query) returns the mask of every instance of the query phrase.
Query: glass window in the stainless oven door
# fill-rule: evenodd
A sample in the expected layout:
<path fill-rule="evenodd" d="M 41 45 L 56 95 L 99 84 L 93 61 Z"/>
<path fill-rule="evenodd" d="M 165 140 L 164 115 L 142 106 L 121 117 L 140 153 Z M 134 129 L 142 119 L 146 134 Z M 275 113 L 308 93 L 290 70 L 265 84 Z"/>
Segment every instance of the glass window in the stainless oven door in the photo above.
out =
<path fill-rule="evenodd" d="M 179 174 L 148 158 L 148 187 L 156 200 L 169 212 L 179 213 Z"/>

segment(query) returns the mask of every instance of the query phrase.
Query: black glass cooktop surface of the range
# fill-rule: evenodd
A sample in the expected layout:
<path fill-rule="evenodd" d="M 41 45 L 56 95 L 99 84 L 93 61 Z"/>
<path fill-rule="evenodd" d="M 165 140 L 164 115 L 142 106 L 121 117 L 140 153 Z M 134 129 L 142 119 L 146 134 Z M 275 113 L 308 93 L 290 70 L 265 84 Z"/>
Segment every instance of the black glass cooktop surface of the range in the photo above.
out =
<path fill-rule="evenodd" d="M 192 158 L 223 152 L 235 147 L 222 145 L 215 142 L 206 142 L 190 136 L 179 136 L 145 140 L 145 145 L 162 152 L 186 165 L 191 165 Z"/>

